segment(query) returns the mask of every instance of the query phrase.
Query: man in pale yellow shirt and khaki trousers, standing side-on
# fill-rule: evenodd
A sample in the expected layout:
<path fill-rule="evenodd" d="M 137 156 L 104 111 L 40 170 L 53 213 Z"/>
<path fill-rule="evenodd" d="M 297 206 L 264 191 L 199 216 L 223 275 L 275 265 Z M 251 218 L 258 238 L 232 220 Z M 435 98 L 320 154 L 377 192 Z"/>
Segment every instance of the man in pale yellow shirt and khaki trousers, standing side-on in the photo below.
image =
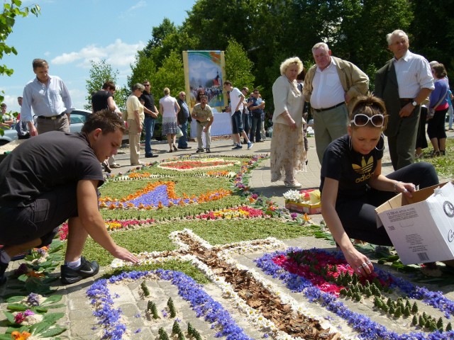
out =
<path fill-rule="evenodd" d="M 129 127 L 129 152 L 131 165 L 141 165 L 140 158 L 140 134 L 143 130 L 143 105 L 139 98 L 142 95 L 145 86 L 136 83 L 133 86 L 133 92 L 126 100 L 126 111 L 128 111 L 128 127 Z"/>

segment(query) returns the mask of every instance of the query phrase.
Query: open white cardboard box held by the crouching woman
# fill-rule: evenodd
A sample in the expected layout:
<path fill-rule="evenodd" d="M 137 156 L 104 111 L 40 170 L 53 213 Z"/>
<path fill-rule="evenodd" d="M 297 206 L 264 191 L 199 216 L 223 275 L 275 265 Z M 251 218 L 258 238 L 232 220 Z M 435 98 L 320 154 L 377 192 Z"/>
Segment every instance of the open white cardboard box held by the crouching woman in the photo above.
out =
<path fill-rule="evenodd" d="M 454 259 L 452 183 L 424 188 L 412 198 L 400 193 L 375 211 L 377 225 L 386 229 L 402 263 Z"/>

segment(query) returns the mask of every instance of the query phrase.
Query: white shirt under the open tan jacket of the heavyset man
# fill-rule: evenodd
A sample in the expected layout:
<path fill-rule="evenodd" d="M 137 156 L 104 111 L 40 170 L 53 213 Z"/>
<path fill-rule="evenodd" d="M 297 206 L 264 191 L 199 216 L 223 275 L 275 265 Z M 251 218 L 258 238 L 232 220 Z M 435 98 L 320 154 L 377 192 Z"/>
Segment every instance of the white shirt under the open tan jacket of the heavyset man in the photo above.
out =
<path fill-rule="evenodd" d="M 312 87 L 312 108 L 331 108 L 345 101 L 345 91 L 343 91 L 334 58 L 331 58 L 331 64 L 323 71 L 317 67 Z"/>

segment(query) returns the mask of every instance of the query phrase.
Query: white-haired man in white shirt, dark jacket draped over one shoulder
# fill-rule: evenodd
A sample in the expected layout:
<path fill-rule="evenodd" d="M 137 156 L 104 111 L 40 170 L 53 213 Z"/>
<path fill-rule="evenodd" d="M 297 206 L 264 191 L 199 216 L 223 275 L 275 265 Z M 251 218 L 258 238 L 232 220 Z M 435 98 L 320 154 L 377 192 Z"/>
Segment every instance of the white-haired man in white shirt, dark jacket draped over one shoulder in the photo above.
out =
<path fill-rule="evenodd" d="M 428 61 L 409 51 L 409 37 L 403 30 L 394 30 L 386 39 L 394 57 L 377 71 L 375 95 L 383 99 L 389 115 L 384 134 L 397 170 L 414 162 L 420 105 L 434 86 Z"/>

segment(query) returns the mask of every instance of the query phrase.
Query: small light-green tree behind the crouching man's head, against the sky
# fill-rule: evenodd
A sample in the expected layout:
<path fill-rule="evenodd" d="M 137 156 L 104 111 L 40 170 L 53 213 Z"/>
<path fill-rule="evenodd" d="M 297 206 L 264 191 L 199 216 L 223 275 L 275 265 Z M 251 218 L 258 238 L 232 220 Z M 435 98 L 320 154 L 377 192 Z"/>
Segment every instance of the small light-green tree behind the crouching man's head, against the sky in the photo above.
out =
<path fill-rule="evenodd" d="M 116 92 L 114 95 L 114 101 L 118 108 L 123 108 L 125 103 L 125 91 L 121 89 L 117 84 L 118 69 L 114 71 L 111 65 L 106 62 L 106 60 L 101 60 L 100 62 L 94 62 L 90 60 L 92 68 L 89 71 L 89 78 L 87 79 L 87 104 L 84 105 L 84 108 L 87 110 L 92 110 L 92 94 L 93 92 L 99 91 L 106 81 L 113 81 L 116 86 Z"/>

